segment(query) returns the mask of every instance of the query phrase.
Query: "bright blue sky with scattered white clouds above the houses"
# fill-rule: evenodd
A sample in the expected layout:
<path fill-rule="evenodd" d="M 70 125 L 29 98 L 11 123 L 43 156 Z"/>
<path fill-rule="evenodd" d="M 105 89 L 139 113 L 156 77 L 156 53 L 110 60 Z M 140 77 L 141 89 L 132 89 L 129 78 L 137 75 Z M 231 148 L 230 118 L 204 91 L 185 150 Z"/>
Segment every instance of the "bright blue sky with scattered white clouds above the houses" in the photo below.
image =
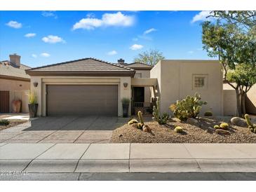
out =
<path fill-rule="evenodd" d="M 0 11 L 0 60 L 37 67 L 83 57 L 133 62 L 158 49 L 166 59 L 210 59 L 202 50 L 207 11 Z"/>

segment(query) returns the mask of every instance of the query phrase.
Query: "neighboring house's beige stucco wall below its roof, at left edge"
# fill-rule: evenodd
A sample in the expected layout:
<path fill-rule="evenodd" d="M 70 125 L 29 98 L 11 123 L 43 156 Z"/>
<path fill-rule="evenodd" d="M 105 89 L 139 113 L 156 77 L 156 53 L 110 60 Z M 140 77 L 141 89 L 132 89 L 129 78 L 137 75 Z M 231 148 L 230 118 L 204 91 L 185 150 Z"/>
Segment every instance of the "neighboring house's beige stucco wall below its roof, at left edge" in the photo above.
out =
<path fill-rule="evenodd" d="M 13 100 L 22 101 L 22 113 L 28 113 L 28 91 L 30 89 L 29 81 L 17 81 L 0 78 L 0 90 L 8 90 L 10 92 L 10 112 L 12 111 L 11 103 Z"/>

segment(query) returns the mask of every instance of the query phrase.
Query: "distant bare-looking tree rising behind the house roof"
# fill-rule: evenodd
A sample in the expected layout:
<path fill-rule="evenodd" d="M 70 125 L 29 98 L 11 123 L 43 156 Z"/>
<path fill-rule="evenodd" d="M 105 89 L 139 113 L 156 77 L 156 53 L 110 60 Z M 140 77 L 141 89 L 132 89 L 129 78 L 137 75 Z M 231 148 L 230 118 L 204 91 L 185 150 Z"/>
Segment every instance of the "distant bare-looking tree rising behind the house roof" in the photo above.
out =
<path fill-rule="evenodd" d="M 155 65 L 160 60 L 163 60 L 163 53 L 159 50 L 147 50 L 140 53 L 137 57 L 134 58 L 134 62 L 142 62 L 149 65 Z"/>

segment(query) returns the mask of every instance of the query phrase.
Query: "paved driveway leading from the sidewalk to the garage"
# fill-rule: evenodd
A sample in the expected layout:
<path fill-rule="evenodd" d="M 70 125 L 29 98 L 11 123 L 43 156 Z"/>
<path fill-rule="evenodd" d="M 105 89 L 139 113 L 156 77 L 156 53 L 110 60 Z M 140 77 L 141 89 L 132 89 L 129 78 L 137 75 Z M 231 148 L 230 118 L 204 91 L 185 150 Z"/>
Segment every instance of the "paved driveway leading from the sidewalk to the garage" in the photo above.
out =
<path fill-rule="evenodd" d="M 0 132 L 0 143 L 109 143 L 112 131 L 128 118 L 107 116 L 41 117 Z"/>

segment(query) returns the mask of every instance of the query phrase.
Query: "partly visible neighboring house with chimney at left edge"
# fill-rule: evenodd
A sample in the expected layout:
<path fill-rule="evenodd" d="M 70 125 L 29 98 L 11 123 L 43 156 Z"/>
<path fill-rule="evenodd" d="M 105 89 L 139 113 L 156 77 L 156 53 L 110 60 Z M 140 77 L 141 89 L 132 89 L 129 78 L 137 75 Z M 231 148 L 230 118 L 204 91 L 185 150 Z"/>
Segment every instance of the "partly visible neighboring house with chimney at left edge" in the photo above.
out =
<path fill-rule="evenodd" d="M 0 62 L 0 113 L 12 112 L 13 100 L 21 100 L 21 112 L 28 112 L 30 76 L 25 73 L 30 67 L 20 63 L 20 55 L 9 55 L 10 60 Z"/>

